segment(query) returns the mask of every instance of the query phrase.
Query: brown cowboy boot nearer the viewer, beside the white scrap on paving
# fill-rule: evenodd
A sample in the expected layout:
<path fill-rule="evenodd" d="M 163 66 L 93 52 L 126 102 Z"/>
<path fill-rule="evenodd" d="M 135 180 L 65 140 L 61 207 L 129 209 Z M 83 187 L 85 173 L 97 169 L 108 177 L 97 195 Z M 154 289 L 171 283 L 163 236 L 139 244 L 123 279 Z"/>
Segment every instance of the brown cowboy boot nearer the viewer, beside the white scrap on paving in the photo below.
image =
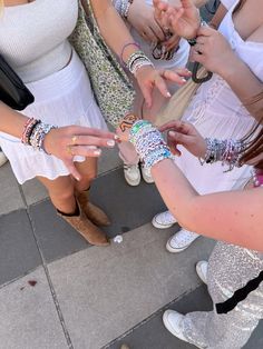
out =
<path fill-rule="evenodd" d="M 79 206 L 78 206 L 79 207 Z M 109 240 L 104 231 L 98 229 L 82 212 L 79 207 L 77 216 L 66 216 L 57 210 L 58 216 L 62 217 L 74 229 L 76 229 L 89 243 L 95 246 L 108 246 Z"/>

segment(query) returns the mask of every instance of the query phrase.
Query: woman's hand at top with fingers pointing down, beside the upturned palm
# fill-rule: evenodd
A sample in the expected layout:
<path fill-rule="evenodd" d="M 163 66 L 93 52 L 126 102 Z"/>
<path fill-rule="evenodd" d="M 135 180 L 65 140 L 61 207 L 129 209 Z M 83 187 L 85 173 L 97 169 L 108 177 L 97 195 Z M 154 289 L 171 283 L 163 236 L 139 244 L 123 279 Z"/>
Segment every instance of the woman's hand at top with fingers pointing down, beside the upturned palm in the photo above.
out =
<path fill-rule="evenodd" d="M 154 8 L 142 0 L 134 0 L 128 11 L 129 23 L 148 42 L 165 40 L 165 33 L 155 20 Z"/>

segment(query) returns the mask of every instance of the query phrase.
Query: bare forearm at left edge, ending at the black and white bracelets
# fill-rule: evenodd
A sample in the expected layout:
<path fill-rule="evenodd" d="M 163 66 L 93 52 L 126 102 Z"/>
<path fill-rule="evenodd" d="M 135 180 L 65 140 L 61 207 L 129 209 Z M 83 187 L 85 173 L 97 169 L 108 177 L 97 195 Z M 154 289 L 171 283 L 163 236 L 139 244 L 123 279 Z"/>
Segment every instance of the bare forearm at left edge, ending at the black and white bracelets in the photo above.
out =
<path fill-rule="evenodd" d="M 21 138 L 28 117 L 0 102 L 0 131 Z"/>

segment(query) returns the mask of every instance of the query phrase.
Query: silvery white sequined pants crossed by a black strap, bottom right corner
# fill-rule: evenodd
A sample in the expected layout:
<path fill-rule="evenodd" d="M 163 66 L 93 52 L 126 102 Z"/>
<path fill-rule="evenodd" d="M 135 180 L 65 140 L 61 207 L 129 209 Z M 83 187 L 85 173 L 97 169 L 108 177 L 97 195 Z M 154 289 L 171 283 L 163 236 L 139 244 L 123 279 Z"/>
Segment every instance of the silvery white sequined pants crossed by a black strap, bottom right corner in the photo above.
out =
<path fill-rule="evenodd" d="M 228 299 L 235 290 L 263 270 L 263 253 L 217 242 L 210 261 L 207 286 L 213 303 Z M 263 319 L 263 282 L 232 311 L 195 311 L 186 315 L 184 336 L 199 348 L 237 349 L 251 337 Z"/>

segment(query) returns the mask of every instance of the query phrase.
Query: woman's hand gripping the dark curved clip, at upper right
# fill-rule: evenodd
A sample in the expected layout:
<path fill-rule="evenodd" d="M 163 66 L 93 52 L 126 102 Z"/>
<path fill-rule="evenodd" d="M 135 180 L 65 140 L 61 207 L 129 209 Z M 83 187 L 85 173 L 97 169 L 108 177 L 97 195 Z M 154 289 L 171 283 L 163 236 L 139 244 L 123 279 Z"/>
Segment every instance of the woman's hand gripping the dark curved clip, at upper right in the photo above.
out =
<path fill-rule="evenodd" d="M 227 67 L 233 67 L 237 59 L 223 34 L 210 27 L 198 29 L 196 44 L 193 47 L 191 56 L 206 70 L 220 76 L 227 71 Z"/>

